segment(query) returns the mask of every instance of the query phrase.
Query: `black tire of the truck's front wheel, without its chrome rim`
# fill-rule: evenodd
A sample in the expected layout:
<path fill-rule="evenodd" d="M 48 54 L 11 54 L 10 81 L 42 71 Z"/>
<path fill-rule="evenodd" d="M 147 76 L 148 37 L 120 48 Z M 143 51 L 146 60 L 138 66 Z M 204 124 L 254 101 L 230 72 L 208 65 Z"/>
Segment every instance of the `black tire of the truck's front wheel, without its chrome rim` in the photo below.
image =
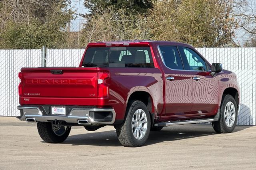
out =
<path fill-rule="evenodd" d="M 232 102 L 234 105 L 234 109 L 235 109 L 235 120 L 234 120 L 234 124 L 232 125 L 232 127 L 228 127 L 228 125 L 225 122 L 225 107 L 227 105 L 228 102 Z M 237 122 L 237 116 L 238 116 L 238 108 L 236 105 L 236 101 L 234 99 L 234 97 L 232 97 L 231 95 L 224 95 L 222 98 L 222 103 L 220 105 L 220 117 L 218 121 L 212 122 L 212 127 L 214 128 L 214 130 L 217 133 L 231 133 L 234 128 L 236 127 L 236 122 Z"/>

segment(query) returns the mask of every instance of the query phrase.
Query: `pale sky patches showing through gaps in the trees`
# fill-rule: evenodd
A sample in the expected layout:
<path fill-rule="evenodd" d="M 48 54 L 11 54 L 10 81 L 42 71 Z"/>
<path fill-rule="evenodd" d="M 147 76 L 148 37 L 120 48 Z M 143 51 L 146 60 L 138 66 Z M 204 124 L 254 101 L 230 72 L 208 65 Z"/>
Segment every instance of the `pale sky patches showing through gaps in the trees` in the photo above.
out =
<path fill-rule="evenodd" d="M 251 0 L 254 5 L 256 4 L 256 0 Z M 78 14 L 86 14 L 88 13 L 88 9 L 84 7 L 84 0 L 72 0 L 71 6 L 74 10 L 76 10 L 76 13 Z M 86 20 L 81 17 L 77 16 L 77 18 L 72 21 L 70 31 L 79 31 L 82 29 L 82 24 L 86 22 Z M 235 38 L 234 42 L 243 45 L 248 40 L 248 36 L 245 35 L 244 30 L 238 29 L 235 32 Z"/>

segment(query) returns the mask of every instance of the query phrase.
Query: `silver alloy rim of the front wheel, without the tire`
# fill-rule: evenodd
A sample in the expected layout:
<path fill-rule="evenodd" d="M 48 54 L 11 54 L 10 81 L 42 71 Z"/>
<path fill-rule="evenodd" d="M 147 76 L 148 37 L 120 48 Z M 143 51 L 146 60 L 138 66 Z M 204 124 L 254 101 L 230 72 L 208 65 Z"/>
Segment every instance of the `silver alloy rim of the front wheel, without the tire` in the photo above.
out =
<path fill-rule="evenodd" d="M 234 104 L 229 101 L 226 104 L 225 111 L 224 111 L 224 118 L 226 125 L 228 127 L 232 127 L 234 125 L 235 119 L 236 119 L 236 109 Z"/>

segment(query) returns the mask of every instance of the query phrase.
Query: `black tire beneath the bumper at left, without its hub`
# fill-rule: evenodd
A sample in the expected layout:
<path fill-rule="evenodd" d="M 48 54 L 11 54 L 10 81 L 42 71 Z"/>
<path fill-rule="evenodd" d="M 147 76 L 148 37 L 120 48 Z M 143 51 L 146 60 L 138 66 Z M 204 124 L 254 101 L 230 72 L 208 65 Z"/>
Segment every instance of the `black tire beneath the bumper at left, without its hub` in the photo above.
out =
<path fill-rule="evenodd" d="M 38 122 L 37 123 L 37 130 L 44 142 L 47 143 L 60 143 L 66 140 L 68 137 L 71 127 L 67 127 L 63 134 L 57 135 L 54 133 L 52 129 L 52 123 L 50 122 Z"/>

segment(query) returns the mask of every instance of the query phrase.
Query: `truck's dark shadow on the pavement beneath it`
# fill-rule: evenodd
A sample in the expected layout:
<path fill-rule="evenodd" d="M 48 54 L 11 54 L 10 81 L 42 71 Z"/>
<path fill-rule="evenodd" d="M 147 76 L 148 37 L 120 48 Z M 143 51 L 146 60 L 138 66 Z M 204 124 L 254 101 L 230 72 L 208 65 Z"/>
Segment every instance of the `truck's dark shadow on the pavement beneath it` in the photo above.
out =
<path fill-rule="evenodd" d="M 244 130 L 250 126 L 236 126 L 234 132 Z M 182 125 L 164 127 L 160 131 L 151 131 L 144 146 L 159 142 L 171 142 L 189 138 L 200 138 L 202 136 L 216 135 L 210 124 Z M 225 137 L 223 135 L 222 137 Z M 91 132 L 87 134 L 76 134 L 69 136 L 62 144 L 90 145 L 94 146 L 122 146 L 118 141 L 115 130 L 104 132 Z"/>

